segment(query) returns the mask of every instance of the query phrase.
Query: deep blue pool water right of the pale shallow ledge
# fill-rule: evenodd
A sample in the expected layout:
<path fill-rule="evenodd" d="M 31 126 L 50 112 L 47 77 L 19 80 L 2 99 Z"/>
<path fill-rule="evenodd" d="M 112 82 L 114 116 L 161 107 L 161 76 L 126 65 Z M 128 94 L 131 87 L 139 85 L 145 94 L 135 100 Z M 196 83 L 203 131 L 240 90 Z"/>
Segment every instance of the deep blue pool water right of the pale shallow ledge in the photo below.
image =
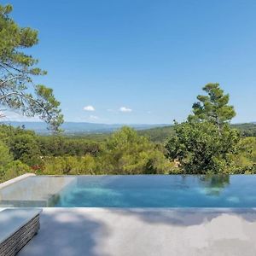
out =
<path fill-rule="evenodd" d="M 56 207 L 256 207 L 256 177 L 81 177 Z"/>

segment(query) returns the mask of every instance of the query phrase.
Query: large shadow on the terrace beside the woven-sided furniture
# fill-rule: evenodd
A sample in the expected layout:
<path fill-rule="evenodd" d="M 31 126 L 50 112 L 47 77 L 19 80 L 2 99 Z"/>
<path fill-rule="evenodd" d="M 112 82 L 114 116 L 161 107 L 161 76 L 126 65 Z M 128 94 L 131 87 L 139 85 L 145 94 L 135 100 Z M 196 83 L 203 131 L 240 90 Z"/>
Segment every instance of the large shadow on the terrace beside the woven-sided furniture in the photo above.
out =
<path fill-rule="evenodd" d="M 108 253 L 96 251 L 98 243 L 109 236 L 108 228 L 101 221 L 78 211 L 68 214 L 60 210 L 44 212 L 40 223 L 38 236 L 20 251 L 19 256 L 108 256 Z"/>

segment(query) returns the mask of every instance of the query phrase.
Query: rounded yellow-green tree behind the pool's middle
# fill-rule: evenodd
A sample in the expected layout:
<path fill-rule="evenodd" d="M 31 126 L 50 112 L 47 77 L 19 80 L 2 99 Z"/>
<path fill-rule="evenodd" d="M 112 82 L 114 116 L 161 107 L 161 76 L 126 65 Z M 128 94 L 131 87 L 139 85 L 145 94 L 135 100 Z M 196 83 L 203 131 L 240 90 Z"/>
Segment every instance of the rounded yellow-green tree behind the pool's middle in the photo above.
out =
<path fill-rule="evenodd" d="M 109 174 L 156 174 L 168 173 L 171 169 L 154 143 L 138 136 L 130 127 L 123 127 L 108 138 L 98 161 L 102 163 L 100 171 Z"/>

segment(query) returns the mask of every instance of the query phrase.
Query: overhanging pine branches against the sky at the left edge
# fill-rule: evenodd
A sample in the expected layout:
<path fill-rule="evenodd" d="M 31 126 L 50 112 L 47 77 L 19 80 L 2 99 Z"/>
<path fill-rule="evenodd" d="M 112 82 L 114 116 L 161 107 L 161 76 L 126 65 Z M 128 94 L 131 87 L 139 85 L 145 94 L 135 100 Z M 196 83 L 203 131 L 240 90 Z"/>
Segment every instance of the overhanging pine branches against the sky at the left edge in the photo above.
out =
<path fill-rule="evenodd" d="M 52 89 L 33 83 L 34 77 L 46 72 L 22 50 L 38 44 L 38 32 L 18 26 L 9 17 L 11 11 L 11 5 L 0 5 L 0 105 L 26 116 L 38 115 L 50 129 L 59 131 L 63 122 L 60 102 Z"/>

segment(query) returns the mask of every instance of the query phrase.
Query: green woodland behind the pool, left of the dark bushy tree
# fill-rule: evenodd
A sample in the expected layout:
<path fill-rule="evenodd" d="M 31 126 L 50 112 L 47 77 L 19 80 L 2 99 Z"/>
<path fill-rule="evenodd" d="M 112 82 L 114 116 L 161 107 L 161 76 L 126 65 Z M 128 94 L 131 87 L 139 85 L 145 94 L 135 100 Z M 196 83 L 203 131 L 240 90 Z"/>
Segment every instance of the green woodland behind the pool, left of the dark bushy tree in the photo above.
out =
<path fill-rule="evenodd" d="M 0 180 L 23 172 L 37 174 L 170 173 L 165 148 L 129 127 L 107 140 L 42 137 L 33 131 L 0 125 Z"/>

